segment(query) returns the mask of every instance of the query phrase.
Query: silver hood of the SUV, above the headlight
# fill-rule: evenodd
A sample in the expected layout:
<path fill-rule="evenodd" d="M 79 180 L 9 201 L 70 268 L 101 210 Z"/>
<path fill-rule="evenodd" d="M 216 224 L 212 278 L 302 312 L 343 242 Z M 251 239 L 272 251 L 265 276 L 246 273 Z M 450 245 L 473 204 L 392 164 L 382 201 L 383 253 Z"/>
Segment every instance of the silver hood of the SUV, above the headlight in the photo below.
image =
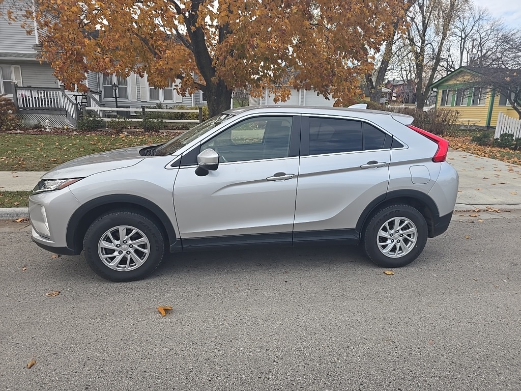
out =
<path fill-rule="evenodd" d="M 133 166 L 143 160 L 139 151 L 144 145 L 78 157 L 60 164 L 42 176 L 42 179 L 82 178 L 103 171 Z"/>

